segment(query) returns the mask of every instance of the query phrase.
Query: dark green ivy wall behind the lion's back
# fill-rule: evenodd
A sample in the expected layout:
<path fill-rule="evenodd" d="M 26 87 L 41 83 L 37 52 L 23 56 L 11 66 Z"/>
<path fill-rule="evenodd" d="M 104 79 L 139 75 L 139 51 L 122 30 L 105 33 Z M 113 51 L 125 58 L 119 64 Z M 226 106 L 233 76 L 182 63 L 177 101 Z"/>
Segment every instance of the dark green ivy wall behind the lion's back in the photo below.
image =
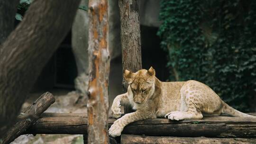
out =
<path fill-rule="evenodd" d="M 179 80 L 206 83 L 248 111 L 256 95 L 256 1 L 162 0 L 160 19 L 161 47 Z"/>

